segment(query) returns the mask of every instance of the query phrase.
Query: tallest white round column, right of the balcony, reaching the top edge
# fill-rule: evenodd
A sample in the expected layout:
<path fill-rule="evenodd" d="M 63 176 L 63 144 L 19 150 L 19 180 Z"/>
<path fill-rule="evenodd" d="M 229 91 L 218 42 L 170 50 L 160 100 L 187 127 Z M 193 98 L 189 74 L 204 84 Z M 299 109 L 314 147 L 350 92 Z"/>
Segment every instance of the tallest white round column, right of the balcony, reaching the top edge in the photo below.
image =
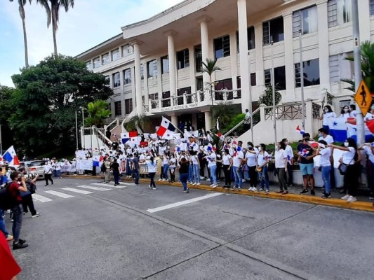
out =
<path fill-rule="evenodd" d="M 239 24 L 239 52 L 241 75 L 241 111 L 249 109 L 252 112 L 251 86 L 249 80 L 248 63 L 248 24 L 246 0 L 238 0 L 238 24 Z"/>

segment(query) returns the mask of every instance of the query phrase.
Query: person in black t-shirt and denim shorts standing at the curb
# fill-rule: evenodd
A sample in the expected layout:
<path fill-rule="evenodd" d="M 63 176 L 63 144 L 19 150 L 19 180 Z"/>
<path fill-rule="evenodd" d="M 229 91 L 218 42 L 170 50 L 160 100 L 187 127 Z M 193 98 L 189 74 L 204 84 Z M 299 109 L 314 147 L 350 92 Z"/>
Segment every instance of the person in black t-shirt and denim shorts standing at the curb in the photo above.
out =
<path fill-rule="evenodd" d="M 305 133 L 302 135 L 302 143 L 298 145 L 298 155 L 299 155 L 299 162 L 300 162 L 300 172 L 302 174 L 302 180 L 304 182 L 304 189 L 300 192 L 300 195 L 304 195 L 305 193 L 309 193 L 308 186 L 310 183 L 311 190 L 310 194 L 315 195 L 314 192 L 314 160 L 313 158 L 316 156 L 313 153 L 312 148 L 310 148 L 308 142 L 310 141 L 310 134 Z"/>

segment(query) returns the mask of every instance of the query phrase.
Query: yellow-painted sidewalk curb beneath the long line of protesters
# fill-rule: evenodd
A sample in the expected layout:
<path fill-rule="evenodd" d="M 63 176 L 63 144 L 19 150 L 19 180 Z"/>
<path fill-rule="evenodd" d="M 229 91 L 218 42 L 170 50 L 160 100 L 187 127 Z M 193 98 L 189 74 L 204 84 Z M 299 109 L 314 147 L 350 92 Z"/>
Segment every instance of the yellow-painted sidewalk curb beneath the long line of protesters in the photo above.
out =
<path fill-rule="evenodd" d="M 64 178 L 89 178 L 89 179 L 103 179 L 103 176 L 91 176 L 91 175 L 64 175 Z M 156 179 L 156 178 L 155 178 Z M 158 179 L 156 179 L 158 180 Z M 126 179 L 123 178 L 121 181 L 124 182 L 133 182 L 133 179 Z M 140 183 L 148 184 L 149 179 L 147 178 L 140 178 Z M 328 199 L 321 198 L 322 190 L 321 188 L 316 188 L 315 192 L 316 195 L 299 195 L 302 188 L 300 186 L 293 186 L 288 187 L 288 194 L 287 195 L 281 195 L 276 193 L 276 191 L 279 190 L 278 185 L 271 184 L 270 185 L 270 193 L 265 194 L 264 192 L 256 193 L 256 192 L 249 192 L 248 191 L 248 183 L 243 183 L 243 189 L 240 191 L 238 190 L 227 190 L 225 188 L 222 188 L 224 183 L 222 181 L 219 181 L 220 185 L 218 185 L 217 188 L 212 188 L 209 186 L 209 181 L 201 180 L 201 185 L 190 185 L 188 184 L 188 188 L 193 190 L 208 190 L 208 191 L 214 191 L 214 192 L 220 192 L 220 193 L 231 193 L 235 195 L 247 195 L 247 196 L 253 196 L 253 197 L 263 197 L 263 198 L 269 198 L 274 200 L 289 200 L 293 202 L 304 202 L 304 203 L 310 203 L 310 204 L 318 204 L 323 206 L 330 206 L 330 207 L 337 207 L 337 208 L 343 208 L 343 209 L 353 209 L 353 210 L 360 210 L 360 211 L 370 211 L 374 212 L 374 201 L 370 201 L 368 199 L 368 196 L 359 195 L 357 196 L 356 202 L 347 202 L 345 200 L 341 200 L 340 197 L 343 195 L 339 193 L 339 190 L 333 190 L 331 192 L 331 197 Z M 174 186 L 178 188 L 182 188 L 182 183 L 175 182 L 175 183 L 169 183 L 168 181 L 156 181 L 156 185 L 164 185 L 164 186 Z"/>

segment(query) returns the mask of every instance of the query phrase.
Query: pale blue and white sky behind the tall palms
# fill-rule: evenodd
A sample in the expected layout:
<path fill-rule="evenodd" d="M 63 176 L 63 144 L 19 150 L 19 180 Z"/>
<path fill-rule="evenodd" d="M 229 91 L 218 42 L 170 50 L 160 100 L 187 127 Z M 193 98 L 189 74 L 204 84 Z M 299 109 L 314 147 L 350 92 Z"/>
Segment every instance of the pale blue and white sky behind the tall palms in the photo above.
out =
<path fill-rule="evenodd" d="M 60 8 L 57 48 L 62 55 L 79 55 L 112 36 L 121 27 L 152 17 L 182 0 L 75 0 L 65 13 Z M 14 87 L 11 76 L 25 66 L 22 20 L 18 1 L 0 0 L 0 85 Z M 53 53 L 52 27 L 46 12 L 32 0 L 25 5 L 29 65 Z"/>

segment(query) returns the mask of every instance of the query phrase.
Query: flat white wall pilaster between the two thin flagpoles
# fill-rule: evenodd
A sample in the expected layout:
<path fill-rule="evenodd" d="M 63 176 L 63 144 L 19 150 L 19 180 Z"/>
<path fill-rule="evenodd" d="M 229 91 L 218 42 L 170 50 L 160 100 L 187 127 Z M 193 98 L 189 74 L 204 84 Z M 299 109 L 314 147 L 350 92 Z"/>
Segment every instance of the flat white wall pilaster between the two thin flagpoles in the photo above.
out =
<path fill-rule="evenodd" d="M 284 61 L 286 66 L 286 100 L 295 101 L 295 66 L 293 62 L 292 13 L 283 15 Z"/>

